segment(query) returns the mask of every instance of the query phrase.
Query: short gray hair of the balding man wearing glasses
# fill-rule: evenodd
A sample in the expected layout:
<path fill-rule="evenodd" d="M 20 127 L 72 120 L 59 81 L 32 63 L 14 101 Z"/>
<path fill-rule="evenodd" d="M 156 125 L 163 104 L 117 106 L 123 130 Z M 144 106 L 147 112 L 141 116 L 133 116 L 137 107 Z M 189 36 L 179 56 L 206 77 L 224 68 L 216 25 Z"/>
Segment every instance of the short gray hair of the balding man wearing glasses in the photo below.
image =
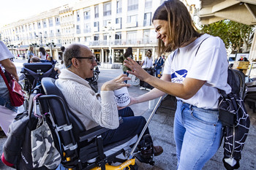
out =
<path fill-rule="evenodd" d="M 72 44 L 66 47 L 64 52 L 64 64 L 66 67 L 72 64 L 72 58 L 80 57 L 80 48 L 78 44 Z"/>

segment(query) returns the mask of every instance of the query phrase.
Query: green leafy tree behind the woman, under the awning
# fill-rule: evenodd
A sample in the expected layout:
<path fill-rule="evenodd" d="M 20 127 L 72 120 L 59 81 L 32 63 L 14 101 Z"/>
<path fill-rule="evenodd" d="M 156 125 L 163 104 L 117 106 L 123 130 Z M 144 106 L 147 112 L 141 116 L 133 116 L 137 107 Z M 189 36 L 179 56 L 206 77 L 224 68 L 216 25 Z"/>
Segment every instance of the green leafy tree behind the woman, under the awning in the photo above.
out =
<path fill-rule="evenodd" d="M 231 48 L 231 53 L 247 53 L 252 45 L 254 26 L 236 23 L 232 20 L 221 20 L 201 26 L 202 33 L 219 36 L 225 43 L 226 48 Z"/>

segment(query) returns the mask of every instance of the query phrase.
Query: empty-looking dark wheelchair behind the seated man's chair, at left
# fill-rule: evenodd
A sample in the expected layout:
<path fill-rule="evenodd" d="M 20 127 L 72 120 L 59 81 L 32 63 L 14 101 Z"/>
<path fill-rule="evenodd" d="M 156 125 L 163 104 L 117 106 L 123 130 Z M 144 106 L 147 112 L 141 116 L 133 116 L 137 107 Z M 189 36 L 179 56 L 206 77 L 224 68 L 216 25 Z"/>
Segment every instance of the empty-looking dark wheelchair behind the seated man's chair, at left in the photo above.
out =
<path fill-rule="evenodd" d="M 58 74 L 54 71 L 54 66 L 52 63 L 23 63 L 23 68 L 20 73 L 22 78 L 20 78 L 20 84 L 26 93 L 26 99 L 24 101 L 24 109 L 29 107 L 29 96 L 33 89 L 36 88 L 41 83 L 43 77 L 53 77 L 56 78 Z M 39 89 L 39 93 L 42 89 Z"/>

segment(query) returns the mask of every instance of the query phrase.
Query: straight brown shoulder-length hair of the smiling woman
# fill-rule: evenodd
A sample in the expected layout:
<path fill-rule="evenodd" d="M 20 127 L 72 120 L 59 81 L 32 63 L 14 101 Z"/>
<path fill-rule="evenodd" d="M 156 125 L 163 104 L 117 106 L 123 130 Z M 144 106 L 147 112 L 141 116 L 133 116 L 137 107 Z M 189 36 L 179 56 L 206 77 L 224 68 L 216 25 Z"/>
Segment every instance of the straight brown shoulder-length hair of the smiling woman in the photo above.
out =
<path fill-rule="evenodd" d="M 199 37 L 201 34 L 197 32 L 192 18 L 183 2 L 179 0 L 164 1 L 157 8 L 152 18 L 154 20 L 166 20 L 169 25 L 169 35 L 167 37 L 170 45 L 165 47 L 162 39 L 158 40 L 158 53 L 161 55 L 165 52 L 176 50 L 192 38 Z"/>

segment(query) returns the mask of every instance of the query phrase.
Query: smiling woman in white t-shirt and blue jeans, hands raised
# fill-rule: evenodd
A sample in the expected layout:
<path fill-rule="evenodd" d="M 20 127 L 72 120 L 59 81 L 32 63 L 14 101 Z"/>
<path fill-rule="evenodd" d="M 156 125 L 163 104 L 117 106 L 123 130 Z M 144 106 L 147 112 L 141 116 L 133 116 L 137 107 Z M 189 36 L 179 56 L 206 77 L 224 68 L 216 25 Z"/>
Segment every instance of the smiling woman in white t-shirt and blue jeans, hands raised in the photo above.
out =
<path fill-rule="evenodd" d="M 227 52 L 222 39 L 197 32 L 183 2 L 164 1 L 153 16 L 158 53 L 171 52 L 161 79 L 153 77 L 128 58 L 126 66 L 140 80 L 154 86 L 150 92 L 131 97 L 130 104 L 149 101 L 165 93 L 176 96 L 173 124 L 177 169 L 202 169 L 217 152 L 222 139 L 219 90 L 227 84 Z"/>

